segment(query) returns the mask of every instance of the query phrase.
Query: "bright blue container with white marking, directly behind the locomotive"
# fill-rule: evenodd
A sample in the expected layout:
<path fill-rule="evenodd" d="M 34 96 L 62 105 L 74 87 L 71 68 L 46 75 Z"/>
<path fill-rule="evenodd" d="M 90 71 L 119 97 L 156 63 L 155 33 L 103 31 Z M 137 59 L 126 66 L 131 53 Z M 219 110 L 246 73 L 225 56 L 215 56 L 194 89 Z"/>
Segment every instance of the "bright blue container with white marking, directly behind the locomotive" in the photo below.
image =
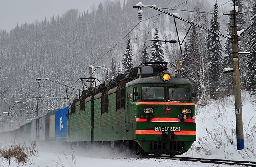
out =
<path fill-rule="evenodd" d="M 66 138 L 68 131 L 68 107 L 55 112 L 55 138 Z"/>

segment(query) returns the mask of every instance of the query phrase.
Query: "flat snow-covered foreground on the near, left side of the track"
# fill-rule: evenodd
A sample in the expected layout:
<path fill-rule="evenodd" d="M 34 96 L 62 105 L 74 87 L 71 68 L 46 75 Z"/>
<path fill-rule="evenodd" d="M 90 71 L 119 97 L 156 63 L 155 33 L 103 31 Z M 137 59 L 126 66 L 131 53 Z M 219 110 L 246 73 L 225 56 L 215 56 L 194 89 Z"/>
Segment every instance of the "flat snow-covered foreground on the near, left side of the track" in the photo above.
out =
<path fill-rule="evenodd" d="M 213 163 L 187 162 L 169 159 L 152 159 L 131 157 L 128 153 L 114 153 L 107 149 L 96 149 L 81 152 L 76 150 L 74 161 L 70 151 L 56 149 L 55 151 L 40 151 L 39 158 L 30 161 L 32 167 L 230 167 L 231 165 L 217 165 Z M 69 153 L 68 153 L 69 152 Z M 29 166 L 28 165 L 25 166 Z M 0 167 L 6 167 L 8 163 L 0 163 Z M 17 163 L 13 162 L 10 167 L 16 167 Z M 21 165 L 22 166 L 22 165 Z M 236 165 L 233 165 L 236 166 Z"/>

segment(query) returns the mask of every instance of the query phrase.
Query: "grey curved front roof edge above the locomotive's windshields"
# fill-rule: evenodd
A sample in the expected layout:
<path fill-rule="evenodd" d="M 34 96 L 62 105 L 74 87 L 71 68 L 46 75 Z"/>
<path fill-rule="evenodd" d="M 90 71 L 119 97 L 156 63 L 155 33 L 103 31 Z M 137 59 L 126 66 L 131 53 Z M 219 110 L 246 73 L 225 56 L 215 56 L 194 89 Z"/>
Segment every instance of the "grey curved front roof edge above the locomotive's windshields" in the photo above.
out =
<path fill-rule="evenodd" d="M 165 82 L 164 80 L 162 80 L 161 75 L 157 75 L 157 76 L 150 76 L 150 77 L 138 78 L 138 79 L 132 80 L 132 81 L 126 83 L 125 87 L 131 86 L 131 85 L 136 85 L 136 84 L 141 84 L 141 83 L 159 83 L 159 84 L 172 83 L 172 84 L 191 85 L 191 82 L 184 78 L 176 78 L 176 77 L 172 76 L 170 81 Z"/>

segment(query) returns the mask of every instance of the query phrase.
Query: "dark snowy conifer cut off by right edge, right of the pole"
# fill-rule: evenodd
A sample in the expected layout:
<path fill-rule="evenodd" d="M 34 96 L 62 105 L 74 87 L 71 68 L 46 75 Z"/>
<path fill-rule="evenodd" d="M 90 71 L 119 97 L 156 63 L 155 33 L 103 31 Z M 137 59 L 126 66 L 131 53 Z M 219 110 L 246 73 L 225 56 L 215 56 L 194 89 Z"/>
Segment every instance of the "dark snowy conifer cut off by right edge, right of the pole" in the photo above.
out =
<path fill-rule="evenodd" d="M 252 8 L 252 22 L 256 21 L 256 0 L 254 0 Z M 250 46 L 248 52 L 248 89 L 252 95 L 256 95 L 256 27 L 254 26 L 250 32 Z"/>

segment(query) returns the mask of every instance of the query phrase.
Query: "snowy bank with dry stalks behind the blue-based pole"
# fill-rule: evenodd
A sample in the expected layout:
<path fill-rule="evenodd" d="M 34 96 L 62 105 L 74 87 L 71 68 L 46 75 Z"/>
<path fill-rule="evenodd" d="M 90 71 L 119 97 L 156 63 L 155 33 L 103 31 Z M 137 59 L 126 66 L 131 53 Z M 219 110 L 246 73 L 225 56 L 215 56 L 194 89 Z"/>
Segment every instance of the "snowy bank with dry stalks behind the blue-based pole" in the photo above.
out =
<path fill-rule="evenodd" d="M 248 92 L 242 92 L 244 124 L 242 151 L 236 150 L 234 96 L 211 100 L 208 106 L 197 108 L 196 111 L 197 141 L 184 155 L 256 161 L 256 103 Z"/>

